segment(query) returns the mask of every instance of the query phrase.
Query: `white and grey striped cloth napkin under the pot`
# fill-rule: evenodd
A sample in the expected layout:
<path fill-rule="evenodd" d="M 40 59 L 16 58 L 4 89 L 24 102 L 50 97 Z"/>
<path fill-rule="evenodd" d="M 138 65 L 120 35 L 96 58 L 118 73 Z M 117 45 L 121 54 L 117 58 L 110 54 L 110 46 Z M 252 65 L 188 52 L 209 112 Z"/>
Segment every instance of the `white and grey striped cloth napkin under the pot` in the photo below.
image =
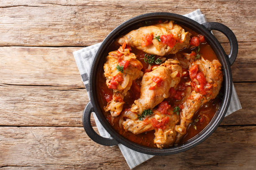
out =
<path fill-rule="evenodd" d="M 201 13 L 200 9 L 195 10 L 192 13 L 186 14 L 184 16 L 191 18 L 192 20 L 195 20 L 200 24 L 207 22 L 205 15 Z M 73 52 L 74 58 L 77 62 L 77 67 L 81 74 L 82 81 L 84 82 L 84 85 L 87 89 L 87 92 L 89 89 L 89 75 L 90 75 L 91 63 L 95 56 L 95 53 L 97 52 L 98 47 L 100 47 L 100 44 L 101 43 L 97 43 L 95 45 L 91 45 L 89 47 L 85 47 L 85 48 L 82 48 L 81 50 Z M 89 93 L 88 93 L 88 96 L 90 97 Z M 241 107 L 240 101 L 238 99 L 235 87 L 233 85 L 230 105 L 228 107 L 228 111 L 225 116 L 230 115 L 231 113 L 236 112 L 241 108 L 242 107 Z M 95 113 L 93 113 L 93 116 L 94 116 L 100 135 L 105 138 L 111 138 L 110 134 L 100 124 L 100 121 L 97 119 L 97 116 L 95 115 Z M 122 144 L 118 144 L 118 146 L 131 169 L 143 163 L 144 161 L 154 157 L 154 155 L 147 155 L 147 154 L 143 154 L 143 153 L 139 153 L 134 150 L 131 150 Z"/>

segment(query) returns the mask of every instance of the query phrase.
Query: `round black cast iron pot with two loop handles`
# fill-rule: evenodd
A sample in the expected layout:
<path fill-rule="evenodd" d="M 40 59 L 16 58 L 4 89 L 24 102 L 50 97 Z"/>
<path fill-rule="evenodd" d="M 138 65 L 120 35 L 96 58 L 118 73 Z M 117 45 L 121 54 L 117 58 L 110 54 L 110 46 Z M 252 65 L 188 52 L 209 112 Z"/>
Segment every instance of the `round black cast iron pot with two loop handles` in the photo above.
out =
<path fill-rule="evenodd" d="M 140 25 L 141 23 L 145 23 L 145 21 L 152 21 L 152 20 L 159 20 L 159 19 L 174 20 L 178 24 L 184 25 L 196 31 L 199 34 L 204 35 L 207 42 L 210 44 L 210 46 L 214 50 L 215 54 L 218 56 L 218 59 L 222 64 L 223 73 L 224 73 L 223 101 L 220 104 L 220 108 L 218 112 L 215 114 L 215 116 L 212 118 L 211 122 L 198 135 L 188 140 L 186 143 L 178 146 L 174 146 L 171 148 L 164 148 L 164 149 L 150 148 L 150 147 L 138 145 L 137 143 L 131 142 L 130 140 L 124 138 L 122 135 L 116 132 L 108 123 L 107 119 L 104 117 L 100 109 L 100 105 L 97 100 L 97 89 L 96 89 L 96 79 L 99 74 L 99 70 L 100 70 L 99 68 L 102 68 L 104 65 L 105 57 L 108 55 L 108 50 L 107 50 L 108 46 L 120 35 L 124 35 L 124 33 L 127 33 L 128 31 L 137 29 L 138 25 Z M 231 47 L 229 55 L 225 54 L 218 40 L 210 32 L 211 30 L 218 30 L 222 32 L 226 37 L 228 37 L 228 40 L 230 42 L 230 47 Z M 236 40 L 236 36 L 228 27 L 220 23 L 199 24 L 194 20 L 191 20 L 187 17 L 184 17 L 182 15 L 177 15 L 174 13 L 147 13 L 147 14 L 139 15 L 135 18 L 132 18 L 122 23 L 105 38 L 105 40 L 100 45 L 95 55 L 95 58 L 92 62 L 92 67 L 90 70 L 90 90 L 89 90 L 91 101 L 85 107 L 84 114 L 83 114 L 83 125 L 84 125 L 85 132 L 92 140 L 94 140 L 96 143 L 99 143 L 101 145 L 117 145 L 120 143 L 127 146 L 128 148 L 131 148 L 132 150 L 136 150 L 138 152 L 151 154 L 151 155 L 171 155 L 171 154 L 180 153 L 190 148 L 193 148 L 194 146 L 198 145 L 199 143 L 204 141 L 206 138 L 208 138 L 215 131 L 215 129 L 223 120 L 223 117 L 225 116 L 225 113 L 228 110 L 228 106 L 231 98 L 231 92 L 232 92 L 232 75 L 231 75 L 230 65 L 232 65 L 233 62 L 236 60 L 237 53 L 238 53 L 238 43 Z M 108 131 L 108 133 L 110 133 L 113 139 L 103 138 L 92 129 L 92 125 L 90 122 L 91 112 L 96 113 L 97 118 L 100 120 L 101 124 Z"/>

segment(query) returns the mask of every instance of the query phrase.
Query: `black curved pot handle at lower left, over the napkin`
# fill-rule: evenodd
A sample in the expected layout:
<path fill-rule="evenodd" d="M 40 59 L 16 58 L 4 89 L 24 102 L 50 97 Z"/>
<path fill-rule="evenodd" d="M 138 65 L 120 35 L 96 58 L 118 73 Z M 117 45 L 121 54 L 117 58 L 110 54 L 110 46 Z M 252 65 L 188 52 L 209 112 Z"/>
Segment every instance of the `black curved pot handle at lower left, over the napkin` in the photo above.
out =
<path fill-rule="evenodd" d="M 87 135 L 96 143 L 100 145 L 106 145 L 106 146 L 112 146 L 112 145 L 117 145 L 118 142 L 114 139 L 109 139 L 109 138 L 104 138 L 100 135 L 98 135 L 92 128 L 91 124 L 91 113 L 93 112 L 92 110 L 93 106 L 91 102 L 88 102 L 84 109 L 84 114 L 83 114 L 83 126 L 84 130 L 87 133 Z"/>

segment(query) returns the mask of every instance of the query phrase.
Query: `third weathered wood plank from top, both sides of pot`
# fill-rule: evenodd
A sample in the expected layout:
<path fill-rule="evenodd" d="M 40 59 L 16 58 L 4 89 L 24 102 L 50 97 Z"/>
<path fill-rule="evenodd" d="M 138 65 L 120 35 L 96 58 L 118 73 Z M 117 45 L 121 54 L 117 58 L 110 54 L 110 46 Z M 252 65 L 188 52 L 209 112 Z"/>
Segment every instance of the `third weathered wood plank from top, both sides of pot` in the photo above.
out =
<path fill-rule="evenodd" d="M 221 125 L 255 124 L 256 83 L 235 83 L 235 87 L 243 109 L 225 117 Z M 88 102 L 85 89 L 0 86 L 0 91 L 0 125 L 82 126 Z"/>

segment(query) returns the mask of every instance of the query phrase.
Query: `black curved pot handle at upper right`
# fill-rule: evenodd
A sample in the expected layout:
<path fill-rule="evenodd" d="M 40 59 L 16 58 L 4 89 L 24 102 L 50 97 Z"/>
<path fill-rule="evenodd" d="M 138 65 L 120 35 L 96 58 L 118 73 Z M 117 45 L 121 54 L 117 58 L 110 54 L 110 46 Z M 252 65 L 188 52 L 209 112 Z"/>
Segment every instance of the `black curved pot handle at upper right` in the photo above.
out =
<path fill-rule="evenodd" d="M 236 56 L 238 54 L 238 42 L 236 39 L 235 34 L 226 26 L 221 23 L 215 23 L 215 22 L 209 22 L 209 23 L 203 23 L 207 30 L 218 30 L 222 32 L 229 40 L 230 43 L 230 53 L 228 56 L 230 65 L 233 65 L 233 63 L 236 60 Z"/>

